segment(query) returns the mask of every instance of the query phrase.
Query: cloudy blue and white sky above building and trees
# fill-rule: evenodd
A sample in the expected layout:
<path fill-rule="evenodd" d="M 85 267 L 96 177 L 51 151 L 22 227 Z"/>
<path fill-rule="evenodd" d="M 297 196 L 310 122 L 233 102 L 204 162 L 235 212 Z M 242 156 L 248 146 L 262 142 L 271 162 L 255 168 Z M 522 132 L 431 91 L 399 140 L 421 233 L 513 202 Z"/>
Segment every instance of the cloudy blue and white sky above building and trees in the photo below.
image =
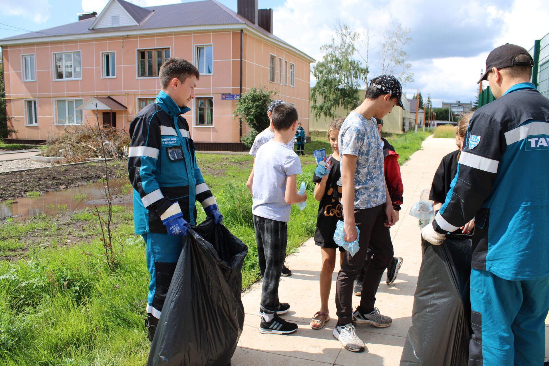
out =
<path fill-rule="evenodd" d="M 236 11 L 237 0 L 219 0 Z M 76 13 L 99 12 L 108 0 L 0 0 L 0 38 L 66 24 Z M 164 5 L 177 0 L 130 0 L 141 6 Z M 182 2 L 186 2 L 183 0 Z M 371 76 L 379 73 L 377 50 L 380 32 L 400 22 L 411 30 L 406 47 L 414 82 L 404 91 L 411 97 L 417 88 L 434 106 L 442 100 L 474 100 L 480 69 L 491 49 L 514 43 L 530 49 L 534 40 L 549 32 L 547 0 L 260 0 L 260 8 L 275 10 L 273 32 L 317 60 L 320 46 L 328 43 L 338 20 L 351 29 L 370 30 Z M 364 52 L 364 49 L 361 50 Z"/>

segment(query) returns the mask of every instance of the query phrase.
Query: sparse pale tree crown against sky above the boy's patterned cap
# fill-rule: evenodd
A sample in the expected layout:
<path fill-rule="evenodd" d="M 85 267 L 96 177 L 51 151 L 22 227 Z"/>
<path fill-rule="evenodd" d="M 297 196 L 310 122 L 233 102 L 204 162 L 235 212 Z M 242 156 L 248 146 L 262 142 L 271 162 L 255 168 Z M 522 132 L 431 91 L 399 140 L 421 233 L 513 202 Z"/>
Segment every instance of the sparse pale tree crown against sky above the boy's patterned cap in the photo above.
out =
<path fill-rule="evenodd" d="M 378 56 L 382 74 L 394 75 L 402 86 L 413 82 L 413 72 L 408 72 L 412 66 L 407 62 L 408 54 L 404 47 L 412 43 L 410 28 L 405 28 L 399 22 L 391 23 L 381 32 L 382 41 L 379 44 Z"/>

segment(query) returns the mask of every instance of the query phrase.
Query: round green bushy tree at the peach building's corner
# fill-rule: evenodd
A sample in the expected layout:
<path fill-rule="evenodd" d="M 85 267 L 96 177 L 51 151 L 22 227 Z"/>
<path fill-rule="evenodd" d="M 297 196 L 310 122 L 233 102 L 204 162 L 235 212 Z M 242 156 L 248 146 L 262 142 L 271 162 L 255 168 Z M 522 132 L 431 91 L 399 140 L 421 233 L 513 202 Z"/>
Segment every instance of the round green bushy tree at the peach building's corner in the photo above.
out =
<path fill-rule="evenodd" d="M 242 119 L 248 126 L 261 132 L 270 125 L 267 116 L 267 105 L 272 102 L 272 95 L 275 92 L 261 88 L 251 88 L 249 92 L 240 95 L 237 102 L 237 108 L 233 115 Z"/>

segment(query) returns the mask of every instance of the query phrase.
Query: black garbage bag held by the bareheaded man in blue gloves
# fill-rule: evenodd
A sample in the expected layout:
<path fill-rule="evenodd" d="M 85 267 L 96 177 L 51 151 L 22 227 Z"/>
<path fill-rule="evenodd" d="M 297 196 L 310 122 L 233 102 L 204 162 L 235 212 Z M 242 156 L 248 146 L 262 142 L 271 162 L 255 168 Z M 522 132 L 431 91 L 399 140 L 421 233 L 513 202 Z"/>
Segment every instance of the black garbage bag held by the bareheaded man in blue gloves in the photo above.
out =
<path fill-rule="evenodd" d="M 248 247 L 211 218 L 183 240 L 147 365 L 227 366 L 244 326 Z"/>

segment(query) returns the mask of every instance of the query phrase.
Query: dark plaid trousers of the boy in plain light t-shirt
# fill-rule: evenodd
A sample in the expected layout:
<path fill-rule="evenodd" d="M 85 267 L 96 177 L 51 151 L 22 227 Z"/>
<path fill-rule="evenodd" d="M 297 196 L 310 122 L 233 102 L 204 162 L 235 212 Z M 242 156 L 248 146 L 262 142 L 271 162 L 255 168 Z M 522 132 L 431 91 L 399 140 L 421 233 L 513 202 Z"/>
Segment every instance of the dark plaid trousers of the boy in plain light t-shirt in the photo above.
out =
<path fill-rule="evenodd" d="M 254 215 L 254 228 L 259 271 L 263 277 L 261 309 L 267 314 L 272 314 L 280 303 L 278 285 L 286 257 L 288 226 L 284 221 Z"/>

